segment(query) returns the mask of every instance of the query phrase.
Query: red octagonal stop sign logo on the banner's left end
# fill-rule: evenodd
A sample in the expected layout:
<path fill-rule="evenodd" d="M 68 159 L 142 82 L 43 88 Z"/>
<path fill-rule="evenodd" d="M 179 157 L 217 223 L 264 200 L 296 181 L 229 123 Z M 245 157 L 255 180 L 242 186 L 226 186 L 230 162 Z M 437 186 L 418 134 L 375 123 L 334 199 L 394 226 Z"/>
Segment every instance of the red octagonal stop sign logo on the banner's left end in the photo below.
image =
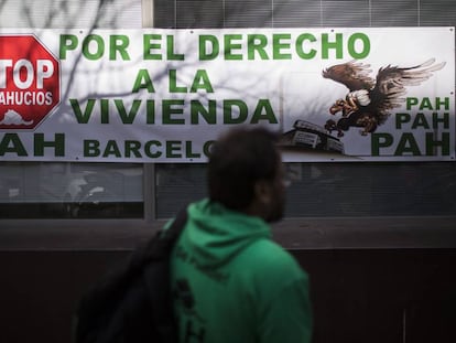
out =
<path fill-rule="evenodd" d="M 0 35 L 0 129 L 34 129 L 61 101 L 58 60 L 34 35 Z"/>

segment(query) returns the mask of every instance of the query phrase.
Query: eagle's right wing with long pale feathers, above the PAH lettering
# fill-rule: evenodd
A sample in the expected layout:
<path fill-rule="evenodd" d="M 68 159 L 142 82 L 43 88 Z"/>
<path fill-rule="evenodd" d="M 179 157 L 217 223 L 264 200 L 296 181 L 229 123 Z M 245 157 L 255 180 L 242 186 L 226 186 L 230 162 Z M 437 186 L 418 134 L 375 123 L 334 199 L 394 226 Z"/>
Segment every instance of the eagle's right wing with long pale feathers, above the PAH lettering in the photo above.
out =
<path fill-rule="evenodd" d="M 445 62 L 438 64 L 434 64 L 434 62 L 435 58 L 431 58 L 412 67 L 401 68 L 388 65 L 379 69 L 376 86 L 370 93 L 379 122 L 386 120 L 392 108 L 401 107 L 405 101 L 405 98 L 402 97 L 406 94 L 405 87 L 421 85 L 433 75 L 433 72 L 445 66 Z"/>

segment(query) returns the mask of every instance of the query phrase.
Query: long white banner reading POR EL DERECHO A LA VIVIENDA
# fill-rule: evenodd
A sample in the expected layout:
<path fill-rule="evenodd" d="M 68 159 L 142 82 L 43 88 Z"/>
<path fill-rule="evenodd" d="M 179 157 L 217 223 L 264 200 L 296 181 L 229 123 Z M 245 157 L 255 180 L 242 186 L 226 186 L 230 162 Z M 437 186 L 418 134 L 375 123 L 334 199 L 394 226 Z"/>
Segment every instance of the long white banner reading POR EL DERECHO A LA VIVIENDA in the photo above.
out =
<path fill-rule="evenodd" d="M 455 159 L 454 28 L 2 30 L 0 160 L 202 162 L 263 125 L 285 161 Z"/>

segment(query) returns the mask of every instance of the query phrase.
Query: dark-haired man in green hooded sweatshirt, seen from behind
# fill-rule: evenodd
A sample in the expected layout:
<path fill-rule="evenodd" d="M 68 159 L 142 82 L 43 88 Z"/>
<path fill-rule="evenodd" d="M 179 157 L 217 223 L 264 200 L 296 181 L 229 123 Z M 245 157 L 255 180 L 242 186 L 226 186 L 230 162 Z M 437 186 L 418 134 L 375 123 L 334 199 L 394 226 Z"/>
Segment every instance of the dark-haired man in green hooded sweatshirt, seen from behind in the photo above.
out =
<path fill-rule="evenodd" d="M 278 136 L 236 128 L 214 146 L 209 197 L 191 204 L 174 247 L 171 281 L 181 343 L 306 343 L 308 278 L 271 239 L 282 218 Z"/>

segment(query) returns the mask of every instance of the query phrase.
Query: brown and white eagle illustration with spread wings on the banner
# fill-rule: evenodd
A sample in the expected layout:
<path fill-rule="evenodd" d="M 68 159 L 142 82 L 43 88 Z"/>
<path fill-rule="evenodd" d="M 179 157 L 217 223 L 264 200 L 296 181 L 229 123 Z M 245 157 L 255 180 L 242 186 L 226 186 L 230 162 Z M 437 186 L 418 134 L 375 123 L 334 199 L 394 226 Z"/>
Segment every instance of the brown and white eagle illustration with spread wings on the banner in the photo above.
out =
<path fill-rule="evenodd" d="M 341 83 L 350 90 L 345 99 L 338 99 L 329 108 L 332 115 L 341 112 L 337 121 L 329 119 L 325 128 L 337 131 L 343 137 L 343 131 L 350 127 L 361 127 L 362 136 L 376 131 L 379 125 L 387 121 L 391 109 L 401 107 L 405 101 L 402 96 L 406 94 L 406 86 L 419 86 L 428 79 L 433 72 L 445 66 L 445 62 L 434 64 L 431 58 L 412 67 L 398 67 L 388 65 L 377 73 L 377 79 L 369 76 L 372 72 L 369 64 L 350 61 L 333 65 L 323 71 L 325 78 Z"/>

